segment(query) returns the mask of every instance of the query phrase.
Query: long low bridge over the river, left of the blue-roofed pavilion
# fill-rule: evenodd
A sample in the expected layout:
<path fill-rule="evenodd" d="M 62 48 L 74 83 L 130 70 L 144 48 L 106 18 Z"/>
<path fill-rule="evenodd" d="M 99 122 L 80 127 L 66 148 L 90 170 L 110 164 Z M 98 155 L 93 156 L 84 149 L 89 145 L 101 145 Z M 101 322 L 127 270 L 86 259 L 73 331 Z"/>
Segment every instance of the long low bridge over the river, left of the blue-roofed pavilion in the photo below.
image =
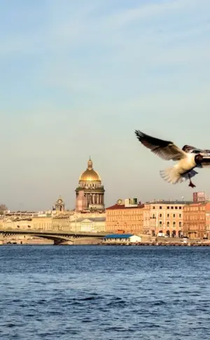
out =
<path fill-rule="evenodd" d="M 0 240 L 3 241 L 3 238 L 7 238 L 8 236 L 14 235 L 28 235 L 34 237 L 48 238 L 48 240 L 53 240 L 55 245 L 69 244 L 73 245 L 77 238 L 94 238 L 98 240 L 102 240 L 107 233 L 85 233 L 75 231 L 61 231 L 56 229 L 10 229 L 10 228 L 1 228 L 0 227 Z M 2 244 L 3 242 L 1 242 Z"/>

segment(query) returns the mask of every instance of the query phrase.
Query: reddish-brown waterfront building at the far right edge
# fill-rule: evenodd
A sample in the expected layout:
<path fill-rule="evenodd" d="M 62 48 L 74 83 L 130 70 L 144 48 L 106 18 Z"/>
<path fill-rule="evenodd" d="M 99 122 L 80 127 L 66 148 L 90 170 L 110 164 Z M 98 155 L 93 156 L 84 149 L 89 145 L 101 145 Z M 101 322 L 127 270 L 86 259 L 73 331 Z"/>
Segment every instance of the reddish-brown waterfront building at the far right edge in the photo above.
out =
<path fill-rule="evenodd" d="M 209 238 L 210 202 L 192 203 L 183 208 L 183 234 L 188 238 Z"/>

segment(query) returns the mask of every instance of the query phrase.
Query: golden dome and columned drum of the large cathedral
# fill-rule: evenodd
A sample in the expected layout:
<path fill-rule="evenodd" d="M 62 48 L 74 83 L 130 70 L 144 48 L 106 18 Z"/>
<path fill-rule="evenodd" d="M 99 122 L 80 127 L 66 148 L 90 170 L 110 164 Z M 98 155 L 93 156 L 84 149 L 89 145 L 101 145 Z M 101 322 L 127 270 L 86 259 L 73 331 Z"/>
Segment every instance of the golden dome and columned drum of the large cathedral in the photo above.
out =
<path fill-rule="evenodd" d="M 104 192 L 102 179 L 93 169 L 90 158 L 76 188 L 76 211 L 104 210 Z"/>

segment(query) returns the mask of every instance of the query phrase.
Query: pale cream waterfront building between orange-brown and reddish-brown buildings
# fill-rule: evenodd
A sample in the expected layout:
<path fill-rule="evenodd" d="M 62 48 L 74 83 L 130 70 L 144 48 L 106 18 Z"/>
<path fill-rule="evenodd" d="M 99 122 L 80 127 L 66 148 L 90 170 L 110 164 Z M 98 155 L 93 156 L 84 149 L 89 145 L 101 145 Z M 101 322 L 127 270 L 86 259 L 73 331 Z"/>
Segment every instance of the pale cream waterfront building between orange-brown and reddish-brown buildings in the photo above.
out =
<path fill-rule="evenodd" d="M 144 233 L 151 236 L 183 235 L 183 200 L 153 200 L 144 204 Z"/>

